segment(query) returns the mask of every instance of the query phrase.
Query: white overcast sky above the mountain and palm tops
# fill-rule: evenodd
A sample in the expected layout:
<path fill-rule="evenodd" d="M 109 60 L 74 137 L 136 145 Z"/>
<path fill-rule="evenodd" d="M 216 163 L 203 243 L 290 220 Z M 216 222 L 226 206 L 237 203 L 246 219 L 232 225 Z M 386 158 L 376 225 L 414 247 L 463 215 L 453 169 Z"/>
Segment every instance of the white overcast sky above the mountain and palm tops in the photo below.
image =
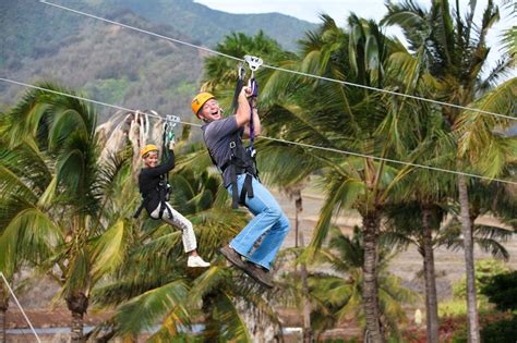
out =
<path fill-rule="evenodd" d="M 318 23 L 318 13 L 329 14 L 339 25 L 345 25 L 345 20 L 349 12 L 366 19 L 381 20 L 386 13 L 384 0 L 194 0 L 211 9 L 230 13 L 268 13 L 278 12 L 302 19 L 312 23 Z M 420 1 L 429 7 L 431 0 Z M 501 3 L 500 0 L 495 0 Z M 455 3 L 455 1 L 450 1 Z M 465 10 L 468 0 L 459 0 L 459 5 Z M 478 0 L 477 14 L 486 7 L 488 0 Z M 464 12 L 465 13 L 465 12 Z M 491 64 L 497 59 L 497 50 L 501 47 L 501 32 L 504 28 L 517 25 L 515 15 L 512 19 L 509 10 L 502 10 L 501 21 L 494 26 L 494 30 L 489 35 L 488 42 L 492 46 L 490 53 Z M 388 29 L 389 35 L 400 35 L 398 29 Z M 516 74 L 516 73 L 514 73 Z"/>

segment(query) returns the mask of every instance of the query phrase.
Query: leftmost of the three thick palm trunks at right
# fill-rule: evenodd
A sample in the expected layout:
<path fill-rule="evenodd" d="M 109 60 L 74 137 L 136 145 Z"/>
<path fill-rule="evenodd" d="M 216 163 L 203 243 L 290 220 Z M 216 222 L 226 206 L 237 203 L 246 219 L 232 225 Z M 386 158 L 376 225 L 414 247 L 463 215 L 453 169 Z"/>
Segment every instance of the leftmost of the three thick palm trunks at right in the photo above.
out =
<path fill-rule="evenodd" d="M 363 216 L 364 230 L 364 266 L 363 266 L 363 302 L 366 317 L 365 341 L 383 343 L 384 336 L 381 329 L 381 315 L 378 309 L 377 289 L 377 237 L 381 216 L 377 210 Z"/>

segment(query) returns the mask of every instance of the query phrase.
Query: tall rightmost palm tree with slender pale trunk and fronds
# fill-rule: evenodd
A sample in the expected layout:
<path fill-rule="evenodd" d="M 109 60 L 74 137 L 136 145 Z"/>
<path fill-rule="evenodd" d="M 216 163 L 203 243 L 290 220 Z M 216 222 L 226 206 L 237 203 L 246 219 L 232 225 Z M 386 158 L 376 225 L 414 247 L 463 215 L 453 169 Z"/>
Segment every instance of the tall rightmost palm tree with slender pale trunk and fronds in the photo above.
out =
<path fill-rule="evenodd" d="M 470 2 L 466 15 L 461 16 L 459 8 L 450 8 L 448 1 L 434 1 L 429 11 L 411 0 L 399 4 L 389 2 L 388 14 L 384 22 L 399 25 L 411 50 L 416 53 L 421 51 L 422 66 L 440 82 L 436 88 L 440 100 L 512 113 L 508 110 L 513 108 L 512 98 L 515 97 L 515 90 L 512 89 L 515 89 L 515 79 L 480 97 L 504 75 L 515 56 L 505 56 L 486 77 L 481 77 L 490 51 L 485 37 L 491 26 L 498 20 L 498 9 L 489 1 L 481 23 L 477 25 L 473 17 L 476 4 L 476 1 Z M 494 128 L 504 130 L 509 124 L 508 120 L 449 107 L 443 107 L 442 114 L 453 135 L 458 138 L 457 169 L 465 171 L 470 164 L 474 164 L 478 170 L 490 176 L 495 176 L 504 170 L 506 156 L 509 154 Z M 469 340 L 479 342 L 472 225 L 469 216 L 468 183 L 464 175 L 458 176 L 457 187 L 465 237 Z"/>

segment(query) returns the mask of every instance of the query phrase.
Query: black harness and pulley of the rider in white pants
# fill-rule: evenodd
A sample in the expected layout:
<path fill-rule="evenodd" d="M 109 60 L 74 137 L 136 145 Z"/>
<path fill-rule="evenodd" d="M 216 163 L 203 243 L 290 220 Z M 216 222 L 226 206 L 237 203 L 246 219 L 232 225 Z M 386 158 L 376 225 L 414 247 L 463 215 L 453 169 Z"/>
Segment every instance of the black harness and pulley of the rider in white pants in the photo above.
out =
<path fill-rule="evenodd" d="M 153 111 L 155 112 L 155 111 Z M 156 113 L 156 112 L 155 112 Z M 158 114 L 158 113 L 156 113 Z M 177 115 L 167 114 L 164 125 L 163 125 L 163 140 L 161 140 L 161 162 L 165 163 L 169 158 L 169 144 L 170 142 L 176 139 L 175 127 L 176 125 L 181 122 L 181 119 Z M 169 206 L 167 206 L 167 201 L 170 198 L 170 184 L 169 184 L 169 176 L 168 173 L 161 174 L 160 181 L 155 189 L 152 193 L 144 194 L 142 193 L 142 204 L 140 205 L 139 209 L 134 213 L 133 218 L 137 218 L 142 210 L 145 208 L 147 203 L 153 198 L 153 194 L 158 195 L 159 200 L 159 213 L 158 219 L 161 219 L 164 216 L 164 211 L 167 209 L 169 217 L 172 218 L 172 211 L 170 210 Z"/>

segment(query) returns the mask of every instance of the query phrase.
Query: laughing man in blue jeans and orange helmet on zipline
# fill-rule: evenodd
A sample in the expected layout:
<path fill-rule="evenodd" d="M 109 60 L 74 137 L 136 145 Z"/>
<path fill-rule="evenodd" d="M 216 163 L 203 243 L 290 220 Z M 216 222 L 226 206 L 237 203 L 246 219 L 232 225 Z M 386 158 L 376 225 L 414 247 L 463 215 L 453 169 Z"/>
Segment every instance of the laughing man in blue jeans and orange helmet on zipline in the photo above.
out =
<path fill-rule="evenodd" d="M 220 249 L 236 267 L 261 284 L 273 287 L 272 262 L 289 231 L 289 220 L 269 191 L 257 180 L 254 159 L 243 147 L 242 138 L 250 136 L 253 113 L 254 134 L 261 133 L 256 106 L 249 101 L 251 89 L 243 87 L 238 95 L 235 115 L 223 118 L 223 110 L 209 93 L 201 93 L 192 100 L 192 110 L 205 122 L 203 136 L 213 162 L 223 174 L 224 185 L 237 204 L 248 207 L 255 216 L 248 225 Z M 255 243 L 261 240 L 258 246 Z"/>

